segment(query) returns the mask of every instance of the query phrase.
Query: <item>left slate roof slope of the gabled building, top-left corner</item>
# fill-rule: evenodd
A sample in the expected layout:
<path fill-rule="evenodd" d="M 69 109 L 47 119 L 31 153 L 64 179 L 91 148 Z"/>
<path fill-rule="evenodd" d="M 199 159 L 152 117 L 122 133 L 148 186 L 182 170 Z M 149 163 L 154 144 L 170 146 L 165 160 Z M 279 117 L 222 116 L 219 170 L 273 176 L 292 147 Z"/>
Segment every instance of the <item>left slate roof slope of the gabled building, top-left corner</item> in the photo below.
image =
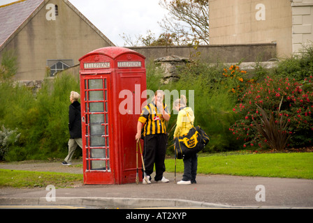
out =
<path fill-rule="evenodd" d="M 21 0 L 0 6 L 0 47 L 44 0 Z"/>

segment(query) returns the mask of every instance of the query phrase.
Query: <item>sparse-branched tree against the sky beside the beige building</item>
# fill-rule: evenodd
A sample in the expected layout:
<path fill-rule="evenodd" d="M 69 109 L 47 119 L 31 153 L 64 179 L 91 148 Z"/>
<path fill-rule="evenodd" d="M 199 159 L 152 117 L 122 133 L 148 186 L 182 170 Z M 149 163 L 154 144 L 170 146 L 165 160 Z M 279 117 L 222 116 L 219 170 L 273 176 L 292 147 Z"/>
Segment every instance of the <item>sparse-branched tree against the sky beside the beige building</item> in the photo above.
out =
<path fill-rule="evenodd" d="M 159 0 L 159 5 L 169 12 L 159 25 L 175 33 L 177 45 L 209 44 L 208 0 Z"/>

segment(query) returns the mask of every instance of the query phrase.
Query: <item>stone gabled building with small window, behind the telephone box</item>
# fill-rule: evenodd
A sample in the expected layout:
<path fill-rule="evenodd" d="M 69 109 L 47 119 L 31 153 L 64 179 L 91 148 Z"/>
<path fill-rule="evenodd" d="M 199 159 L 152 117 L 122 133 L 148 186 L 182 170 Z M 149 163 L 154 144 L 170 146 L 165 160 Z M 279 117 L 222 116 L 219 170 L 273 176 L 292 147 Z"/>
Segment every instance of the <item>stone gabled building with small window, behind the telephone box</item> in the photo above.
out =
<path fill-rule="evenodd" d="M 0 6 L 0 57 L 17 56 L 17 80 L 41 80 L 79 63 L 100 47 L 114 46 L 67 0 L 22 0 Z"/>

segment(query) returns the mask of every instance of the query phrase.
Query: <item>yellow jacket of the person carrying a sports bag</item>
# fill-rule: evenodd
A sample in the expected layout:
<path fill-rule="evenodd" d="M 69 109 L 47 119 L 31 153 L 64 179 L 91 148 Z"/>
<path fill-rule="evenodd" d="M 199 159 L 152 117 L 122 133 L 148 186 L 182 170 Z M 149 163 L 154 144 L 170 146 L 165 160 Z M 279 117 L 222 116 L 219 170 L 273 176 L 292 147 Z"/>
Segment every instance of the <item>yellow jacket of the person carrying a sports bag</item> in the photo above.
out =
<path fill-rule="evenodd" d="M 178 112 L 174 137 L 181 137 L 183 134 L 187 134 L 193 126 L 194 111 L 192 111 L 191 107 L 185 107 Z"/>

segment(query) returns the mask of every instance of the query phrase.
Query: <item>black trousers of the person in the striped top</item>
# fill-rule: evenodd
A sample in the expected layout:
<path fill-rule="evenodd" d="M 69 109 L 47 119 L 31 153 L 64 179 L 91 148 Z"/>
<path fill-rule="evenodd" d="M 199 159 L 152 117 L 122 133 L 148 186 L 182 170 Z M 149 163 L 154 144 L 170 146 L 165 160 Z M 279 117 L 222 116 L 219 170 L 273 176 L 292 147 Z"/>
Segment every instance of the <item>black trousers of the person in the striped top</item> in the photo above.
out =
<path fill-rule="evenodd" d="M 154 180 L 161 180 L 165 171 L 165 155 L 168 137 L 166 134 L 148 134 L 145 136 L 143 160 L 145 162 L 145 173 L 150 176 L 155 164 L 156 175 Z"/>

